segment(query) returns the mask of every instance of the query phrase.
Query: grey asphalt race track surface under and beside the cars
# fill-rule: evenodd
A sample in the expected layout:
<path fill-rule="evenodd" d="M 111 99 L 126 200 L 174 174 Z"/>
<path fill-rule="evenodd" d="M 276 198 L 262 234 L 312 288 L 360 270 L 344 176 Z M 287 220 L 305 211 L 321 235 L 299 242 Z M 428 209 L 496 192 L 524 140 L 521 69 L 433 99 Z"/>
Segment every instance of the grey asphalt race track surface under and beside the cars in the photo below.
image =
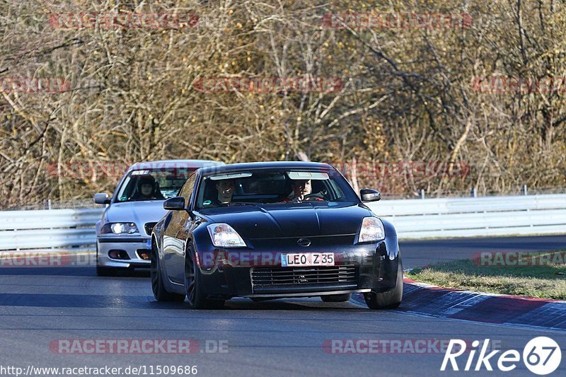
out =
<path fill-rule="evenodd" d="M 468 238 L 411 241 L 401 248 L 405 267 L 416 267 L 481 250 L 564 250 L 565 240 L 565 236 Z M 433 340 L 489 338 L 502 350 L 517 349 L 522 354 L 526 342 L 538 336 L 553 338 L 562 349 L 562 363 L 552 375 L 566 372 L 563 331 L 369 311 L 355 300 L 323 303 L 318 298 L 260 303 L 238 298 L 221 311 L 191 311 L 186 303 L 154 301 L 144 272 L 97 277 L 93 267 L 1 268 L 0 318 L 0 373 L 8 366 L 23 372 L 28 366 L 109 366 L 121 367 L 120 375 L 125 375 L 127 366 L 144 366 L 146 374 L 143 370 L 139 374 L 151 376 L 151 367 L 156 373 L 158 366 L 196 365 L 197 376 L 437 376 L 444 353 L 434 346 L 424 354 L 410 349 L 404 354 L 332 354 L 323 345 L 330 340 L 434 344 Z M 64 354 L 50 348 L 61 344 L 57 340 L 192 340 L 198 347 L 193 354 Z M 215 344 L 227 352 L 215 352 Z M 458 358 L 461 369 L 468 356 Z M 522 362 L 507 373 L 497 371 L 497 360 L 491 364 L 496 371 L 483 368 L 441 375 L 536 376 Z"/>

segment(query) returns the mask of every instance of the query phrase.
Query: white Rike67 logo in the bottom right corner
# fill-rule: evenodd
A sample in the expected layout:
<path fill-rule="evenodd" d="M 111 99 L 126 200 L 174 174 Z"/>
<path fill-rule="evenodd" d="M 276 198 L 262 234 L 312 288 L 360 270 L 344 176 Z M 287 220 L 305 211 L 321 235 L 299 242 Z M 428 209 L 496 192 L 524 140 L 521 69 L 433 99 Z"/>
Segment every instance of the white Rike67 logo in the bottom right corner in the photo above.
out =
<path fill-rule="evenodd" d="M 468 350 L 468 352 L 466 352 L 467 344 L 468 343 L 463 340 L 451 339 L 448 344 L 448 349 L 446 349 L 446 354 L 444 354 L 444 360 L 442 360 L 440 370 L 446 371 L 446 367 L 449 366 L 453 371 L 459 371 L 462 364 L 458 366 L 456 359 L 464 353 L 468 354 L 466 365 L 463 367 L 464 371 L 481 371 L 483 368 L 485 368 L 486 371 L 493 371 L 493 363 L 497 365 L 499 371 L 509 372 L 513 371 L 521 361 L 521 354 L 516 349 L 509 349 L 499 354 L 499 357 L 495 357 L 495 355 L 500 352 L 499 349 L 487 353 L 490 344 L 489 339 L 483 341 L 481 349 L 480 341 L 474 340 L 472 342 L 472 349 Z M 478 353 L 477 351 L 479 351 L 478 359 L 474 360 L 475 354 Z M 465 357 L 463 359 L 465 359 Z M 522 361 L 526 368 L 540 376 L 553 373 L 553 371 L 558 369 L 561 359 L 562 352 L 560 351 L 560 346 L 549 337 L 536 337 L 530 340 L 524 347 L 522 354 Z M 475 367 L 473 365 L 474 361 Z"/>

